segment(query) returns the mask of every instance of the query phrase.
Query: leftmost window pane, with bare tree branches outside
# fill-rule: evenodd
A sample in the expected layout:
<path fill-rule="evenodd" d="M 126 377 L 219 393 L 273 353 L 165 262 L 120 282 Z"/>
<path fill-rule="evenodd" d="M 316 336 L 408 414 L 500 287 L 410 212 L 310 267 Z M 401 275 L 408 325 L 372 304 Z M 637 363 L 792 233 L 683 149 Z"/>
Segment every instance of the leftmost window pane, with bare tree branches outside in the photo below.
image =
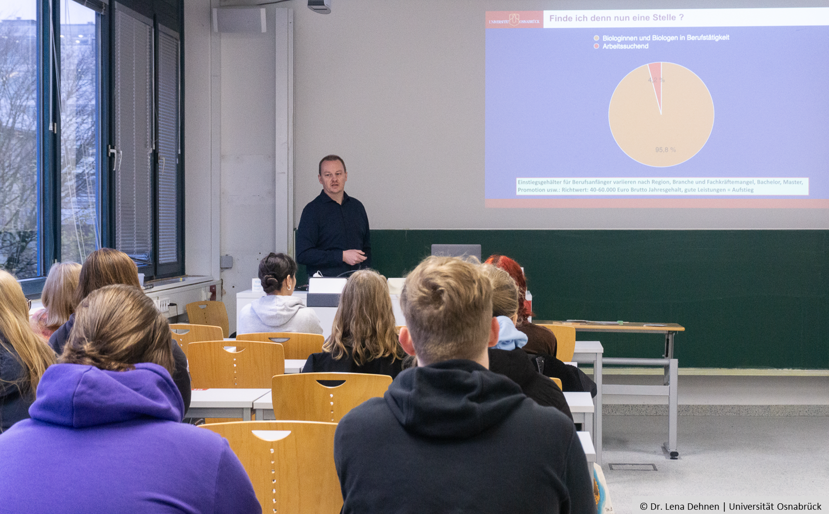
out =
<path fill-rule="evenodd" d="M 36 3 L 34 0 L 3 0 L 2 3 L 0 267 L 17 278 L 28 278 L 38 274 Z"/>

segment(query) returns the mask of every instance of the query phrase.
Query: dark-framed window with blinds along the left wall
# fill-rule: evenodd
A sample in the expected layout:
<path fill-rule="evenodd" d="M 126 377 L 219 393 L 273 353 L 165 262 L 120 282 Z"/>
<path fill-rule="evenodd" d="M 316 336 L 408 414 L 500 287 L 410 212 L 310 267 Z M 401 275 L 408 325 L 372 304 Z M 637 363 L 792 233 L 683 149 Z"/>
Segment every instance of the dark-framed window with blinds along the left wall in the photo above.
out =
<path fill-rule="evenodd" d="M 183 274 L 180 25 L 175 0 L 0 2 L 0 267 L 27 294 L 102 246 Z"/>

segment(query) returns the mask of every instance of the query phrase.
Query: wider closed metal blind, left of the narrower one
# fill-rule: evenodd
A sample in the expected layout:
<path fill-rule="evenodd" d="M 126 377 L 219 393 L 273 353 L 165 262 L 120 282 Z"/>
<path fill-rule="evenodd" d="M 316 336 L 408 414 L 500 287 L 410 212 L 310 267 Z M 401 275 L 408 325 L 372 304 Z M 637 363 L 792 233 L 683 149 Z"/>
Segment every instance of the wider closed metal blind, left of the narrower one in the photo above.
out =
<path fill-rule="evenodd" d="M 153 26 L 114 12 L 115 247 L 149 262 L 153 249 Z"/>

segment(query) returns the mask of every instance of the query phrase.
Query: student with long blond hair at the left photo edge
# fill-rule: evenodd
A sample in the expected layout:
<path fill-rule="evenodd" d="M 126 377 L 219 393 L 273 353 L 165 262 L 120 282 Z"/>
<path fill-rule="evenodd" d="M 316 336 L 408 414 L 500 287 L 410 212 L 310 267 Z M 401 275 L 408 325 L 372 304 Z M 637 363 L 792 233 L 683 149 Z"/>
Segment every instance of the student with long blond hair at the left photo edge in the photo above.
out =
<path fill-rule="evenodd" d="M 29 326 L 29 305 L 20 284 L 0 270 L 0 433 L 29 417 L 37 383 L 53 363 L 55 352 Z"/>

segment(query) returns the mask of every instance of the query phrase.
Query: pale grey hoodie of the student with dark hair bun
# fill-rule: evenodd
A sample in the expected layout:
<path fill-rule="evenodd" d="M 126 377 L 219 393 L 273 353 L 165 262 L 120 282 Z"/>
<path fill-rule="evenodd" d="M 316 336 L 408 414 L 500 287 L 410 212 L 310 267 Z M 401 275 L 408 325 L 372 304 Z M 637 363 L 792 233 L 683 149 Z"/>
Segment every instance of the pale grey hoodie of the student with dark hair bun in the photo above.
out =
<path fill-rule="evenodd" d="M 317 313 L 298 296 L 267 295 L 242 307 L 236 334 L 303 332 L 322 334 Z"/>

